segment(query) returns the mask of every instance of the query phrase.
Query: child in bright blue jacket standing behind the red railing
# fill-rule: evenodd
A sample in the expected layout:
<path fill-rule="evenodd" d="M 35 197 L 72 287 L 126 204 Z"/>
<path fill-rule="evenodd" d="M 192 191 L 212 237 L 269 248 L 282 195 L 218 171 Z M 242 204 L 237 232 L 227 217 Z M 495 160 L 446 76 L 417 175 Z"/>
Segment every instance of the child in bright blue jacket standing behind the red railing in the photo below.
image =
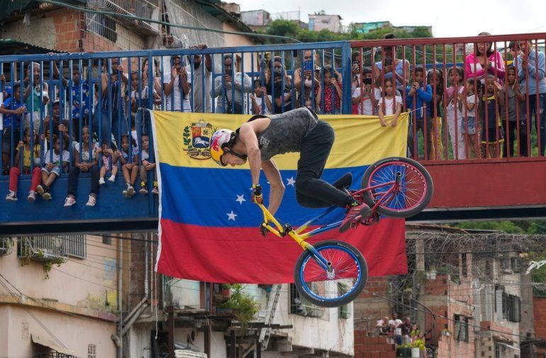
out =
<path fill-rule="evenodd" d="M 430 117 L 430 101 L 433 99 L 433 88 L 426 84 L 425 70 L 423 67 L 415 67 L 413 69 L 413 84 L 406 88 L 406 104 L 408 109 L 411 110 L 411 126 L 408 130 L 408 148 L 411 156 L 418 157 L 418 153 L 413 151 L 414 148 L 414 136 L 418 135 L 419 130 L 423 133 L 423 139 L 425 140 L 425 159 L 430 159 L 430 148 L 432 147 L 432 141 L 430 140 L 430 130 L 432 130 L 433 123 Z M 425 107 L 426 111 L 425 111 Z"/>

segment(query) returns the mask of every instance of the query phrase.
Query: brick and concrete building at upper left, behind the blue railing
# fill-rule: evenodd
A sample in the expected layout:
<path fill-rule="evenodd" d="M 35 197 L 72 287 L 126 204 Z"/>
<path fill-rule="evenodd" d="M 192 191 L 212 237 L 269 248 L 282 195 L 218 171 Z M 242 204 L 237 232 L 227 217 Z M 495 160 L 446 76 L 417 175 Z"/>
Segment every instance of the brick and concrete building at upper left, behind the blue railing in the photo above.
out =
<path fill-rule="evenodd" d="M 255 45 L 261 40 L 246 35 L 225 35 L 154 22 L 169 23 L 171 19 L 176 19 L 172 22 L 184 26 L 253 32 L 217 1 L 144 0 L 139 2 L 139 6 L 134 6 L 134 1 L 128 0 L 82 2 L 87 3 L 91 11 L 99 12 L 84 13 L 36 1 L 13 1 L 11 6 L 0 11 L 0 20 L 4 21 L 0 38 L 43 47 L 46 52 L 179 48 L 198 43 L 207 43 L 209 47 L 224 47 Z M 113 12 L 118 16 L 107 16 L 101 11 Z M 43 53 L 43 50 L 40 52 Z M 0 50 L 2 54 L 6 52 Z"/>

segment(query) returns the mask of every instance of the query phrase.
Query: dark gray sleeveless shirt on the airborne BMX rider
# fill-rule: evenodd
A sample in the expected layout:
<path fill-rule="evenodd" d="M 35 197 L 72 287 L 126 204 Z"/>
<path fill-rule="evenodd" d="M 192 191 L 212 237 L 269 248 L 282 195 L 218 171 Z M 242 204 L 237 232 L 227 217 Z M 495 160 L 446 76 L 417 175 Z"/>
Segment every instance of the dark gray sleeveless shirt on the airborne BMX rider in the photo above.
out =
<path fill-rule="evenodd" d="M 299 152 L 301 141 L 316 127 L 318 119 L 307 108 L 274 114 L 273 116 L 254 116 L 271 118 L 271 123 L 261 133 L 257 133 L 262 160 L 269 160 L 275 155 Z"/>

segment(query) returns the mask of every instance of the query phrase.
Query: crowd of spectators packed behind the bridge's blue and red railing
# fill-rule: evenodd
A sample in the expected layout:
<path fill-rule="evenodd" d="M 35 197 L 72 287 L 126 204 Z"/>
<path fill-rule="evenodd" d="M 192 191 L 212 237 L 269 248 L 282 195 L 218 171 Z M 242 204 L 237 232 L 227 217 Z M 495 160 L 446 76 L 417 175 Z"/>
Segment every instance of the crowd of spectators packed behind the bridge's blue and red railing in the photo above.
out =
<path fill-rule="evenodd" d="M 463 65 L 434 68 L 400 58 L 400 46 L 379 47 L 381 60 L 368 62 L 355 50 L 345 79 L 333 50 L 302 50 L 292 57 L 261 52 L 252 71 L 243 70 L 242 59 L 231 53 L 164 56 L 152 63 L 148 57 L 74 60 L 69 66 L 27 62 L 23 75 L 11 76 L 21 66 L 16 63 L 12 78 L 4 68 L 0 74 L 1 169 L 10 175 L 6 200 L 17 200 L 21 174 L 33 178 L 29 201 L 37 194 L 50 199 L 50 186 L 62 173 L 69 178 L 65 206 L 75 203 L 81 172 L 91 174 L 87 206 L 95 205 L 99 186 L 116 181 L 118 173 L 126 198 L 137 190 L 157 194 L 148 108 L 270 114 L 306 106 L 339 114 L 350 98 L 353 114 L 375 116 L 363 120 L 378 121 L 384 130 L 400 125 L 400 114 L 408 111 L 408 155 L 425 160 L 530 155 L 534 118 L 544 155 L 545 56 L 532 40 L 509 47 L 509 66 L 484 42 L 474 44 Z M 350 96 L 344 96 L 347 81 Z"/>

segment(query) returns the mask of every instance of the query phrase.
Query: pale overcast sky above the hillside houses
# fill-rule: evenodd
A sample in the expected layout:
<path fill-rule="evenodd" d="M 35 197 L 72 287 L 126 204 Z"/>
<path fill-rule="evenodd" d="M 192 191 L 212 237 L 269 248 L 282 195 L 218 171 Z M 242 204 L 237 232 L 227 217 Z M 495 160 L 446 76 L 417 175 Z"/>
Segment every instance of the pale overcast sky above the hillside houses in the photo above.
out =
<path fill-rule="evenodd" d="M 305 22 L 308 22 L 308 13 L 324 10 L 328 14 L 340 15 L 343 26 L 372 21 L 391 21 L 394 26 L 433 26 L 433 35 L 438 38 L 474 36 L 482 31 L 491 35 L 546 32 L 543 0 L 231 1 L 240 4 L 241 11 L 264 9 L 276 13 L 299 10 L 301 21 Z"/>

